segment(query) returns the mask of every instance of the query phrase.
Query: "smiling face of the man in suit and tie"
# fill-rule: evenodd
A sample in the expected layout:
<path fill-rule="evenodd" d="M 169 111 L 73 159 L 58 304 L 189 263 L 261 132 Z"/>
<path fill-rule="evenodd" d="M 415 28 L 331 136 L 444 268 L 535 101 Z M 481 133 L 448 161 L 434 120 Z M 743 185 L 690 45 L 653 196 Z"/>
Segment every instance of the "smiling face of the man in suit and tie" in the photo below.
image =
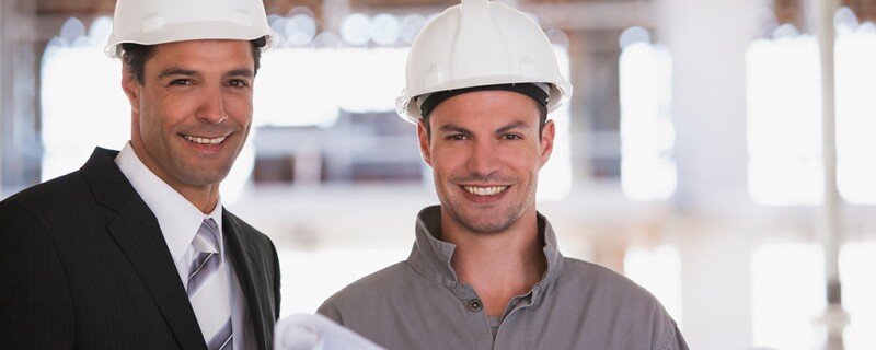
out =
<path fill-rule="evenodd" d="M 254 75 L 245 40 L 161 44 L 146 61 L 142 83 L 123 71 L 134 151 L 201 210 L 216 205 L 219 183 L 246 140 Z"/>

